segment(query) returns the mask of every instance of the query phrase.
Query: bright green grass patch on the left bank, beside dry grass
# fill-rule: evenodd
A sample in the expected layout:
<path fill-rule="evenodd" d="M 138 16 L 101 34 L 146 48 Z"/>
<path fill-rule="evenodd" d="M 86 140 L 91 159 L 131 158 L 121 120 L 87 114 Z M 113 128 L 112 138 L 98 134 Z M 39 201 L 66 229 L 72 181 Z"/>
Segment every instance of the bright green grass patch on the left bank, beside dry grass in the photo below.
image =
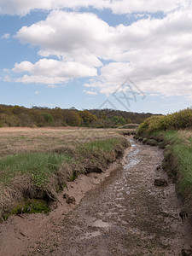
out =
<path fill-rule="evenodd" d="M 16 175 L 28 173 L 38 187 L 46 185 L 49 175 L 58 170 L 62 162 L 72 162 L 69 154 L 22 153 L 0 159 L 0 183 L 8 185 Z"/>

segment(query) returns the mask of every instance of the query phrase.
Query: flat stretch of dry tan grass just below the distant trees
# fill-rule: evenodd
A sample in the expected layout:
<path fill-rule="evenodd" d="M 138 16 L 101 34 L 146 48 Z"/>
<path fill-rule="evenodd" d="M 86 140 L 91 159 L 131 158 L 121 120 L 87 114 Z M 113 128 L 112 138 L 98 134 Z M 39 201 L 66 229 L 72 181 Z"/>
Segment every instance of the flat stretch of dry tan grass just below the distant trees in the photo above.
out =
<path fill-rule="evenodd" d="M 22 152 L 47 152 L 109 137 L 119 137 L 115 129 L 84 128 L 0 128 L 0 156 Z"/>

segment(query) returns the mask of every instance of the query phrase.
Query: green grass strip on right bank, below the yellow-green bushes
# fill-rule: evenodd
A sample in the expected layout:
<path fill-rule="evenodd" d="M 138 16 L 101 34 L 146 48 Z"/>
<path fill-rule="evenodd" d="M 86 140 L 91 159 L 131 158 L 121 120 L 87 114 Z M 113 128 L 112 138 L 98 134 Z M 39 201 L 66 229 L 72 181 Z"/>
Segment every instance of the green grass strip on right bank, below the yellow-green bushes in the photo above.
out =
<path fill-rule="evenodd" d="M 192 196 L 192 143 L 191 132 L 188 133 L 186 137 L 181 131 L 156 131 L 150 134 L 153 137 L 164 137 L 166 143 L 164 165 L 166 171 L 171 170 L 176 175 L 177 192 L 184 199 Z"/>

